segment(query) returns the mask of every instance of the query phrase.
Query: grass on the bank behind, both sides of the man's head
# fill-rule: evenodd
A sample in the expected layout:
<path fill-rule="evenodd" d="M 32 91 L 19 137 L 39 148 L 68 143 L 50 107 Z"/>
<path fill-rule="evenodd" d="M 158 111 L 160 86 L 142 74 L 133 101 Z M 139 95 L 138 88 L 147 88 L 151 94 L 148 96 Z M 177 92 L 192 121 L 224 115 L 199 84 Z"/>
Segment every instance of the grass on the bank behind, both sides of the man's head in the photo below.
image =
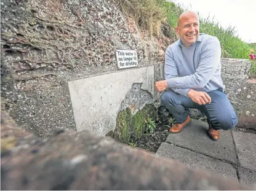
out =
<path fill-rule="evenodd" d="M 124 15 L 134 18 L 137 25 L 149 31 L 150 35 L 164 35 L 164 28 L 169 28 L 169 35 L 177 40 L 175 26 L 180 14 L 184 11 L 182 6 L 166 0 L 113 0 L 121 8 Z M 250 59 L 249 53 L 256 52 L 255 44 L 247 44 L 236 36 L 233 27 L 223 28 L 212 18 L 200 18 L 200 33 L 218 37 L 222 46 L 223 58 Z M 165 34 L 166 35 L 166 34 Z M 252 74 L 256 75 L 255 65 Z"/>

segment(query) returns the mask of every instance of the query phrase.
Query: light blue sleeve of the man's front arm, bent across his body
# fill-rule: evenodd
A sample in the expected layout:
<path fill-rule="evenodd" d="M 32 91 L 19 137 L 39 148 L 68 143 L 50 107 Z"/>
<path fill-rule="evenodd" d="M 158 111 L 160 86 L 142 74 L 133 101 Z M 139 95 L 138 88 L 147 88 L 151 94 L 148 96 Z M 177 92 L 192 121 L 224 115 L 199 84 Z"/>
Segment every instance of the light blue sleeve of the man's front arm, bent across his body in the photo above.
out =
<path fill-rule="evenodd" d="M 201 60 L 194 74 L 167 79 L 170 88 L 203 88 L 214 75 L 221 57 L 220 42 L 217 37 L 210 38 L 202 48 Z"/>

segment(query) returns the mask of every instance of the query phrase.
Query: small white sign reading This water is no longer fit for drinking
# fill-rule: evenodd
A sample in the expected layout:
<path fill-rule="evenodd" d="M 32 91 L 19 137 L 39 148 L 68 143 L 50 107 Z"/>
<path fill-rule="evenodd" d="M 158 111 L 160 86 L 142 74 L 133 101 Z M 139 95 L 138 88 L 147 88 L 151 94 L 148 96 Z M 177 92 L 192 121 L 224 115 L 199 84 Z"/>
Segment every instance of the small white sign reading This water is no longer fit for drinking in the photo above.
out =
<path fill-rule="evenodd" d="M 135 50 L 116 50 L 118 69 L 138 66 L 138 57 Z"/>

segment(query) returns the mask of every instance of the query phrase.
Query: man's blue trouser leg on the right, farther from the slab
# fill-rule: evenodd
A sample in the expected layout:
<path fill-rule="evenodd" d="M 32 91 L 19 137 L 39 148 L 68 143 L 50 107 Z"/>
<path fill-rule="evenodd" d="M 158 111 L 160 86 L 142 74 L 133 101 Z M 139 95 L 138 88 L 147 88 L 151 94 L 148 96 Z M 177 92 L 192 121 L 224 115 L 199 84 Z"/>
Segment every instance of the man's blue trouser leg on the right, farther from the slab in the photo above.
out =
<path fill-rule="evenodd" d="M 238 117 L 225 93 L 218 90 L 207 92 L 210 104 L 199 106 L 215 130 L 230 130 L 238 123 Z"/>

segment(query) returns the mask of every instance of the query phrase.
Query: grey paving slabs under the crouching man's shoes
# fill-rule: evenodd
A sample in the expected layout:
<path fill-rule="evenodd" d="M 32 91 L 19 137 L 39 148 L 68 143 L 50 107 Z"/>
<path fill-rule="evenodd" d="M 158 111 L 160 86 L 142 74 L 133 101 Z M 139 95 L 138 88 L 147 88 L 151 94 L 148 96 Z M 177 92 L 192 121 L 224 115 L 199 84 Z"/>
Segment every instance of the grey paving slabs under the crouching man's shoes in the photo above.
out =
<path fill-rule="evenodd" d="M 207 123 L 192 119 L 181 133 L 170 133 L 156 155 L 256 186 L 256 134 L 220 130 L 212 141 L 207 130 Z"/>

